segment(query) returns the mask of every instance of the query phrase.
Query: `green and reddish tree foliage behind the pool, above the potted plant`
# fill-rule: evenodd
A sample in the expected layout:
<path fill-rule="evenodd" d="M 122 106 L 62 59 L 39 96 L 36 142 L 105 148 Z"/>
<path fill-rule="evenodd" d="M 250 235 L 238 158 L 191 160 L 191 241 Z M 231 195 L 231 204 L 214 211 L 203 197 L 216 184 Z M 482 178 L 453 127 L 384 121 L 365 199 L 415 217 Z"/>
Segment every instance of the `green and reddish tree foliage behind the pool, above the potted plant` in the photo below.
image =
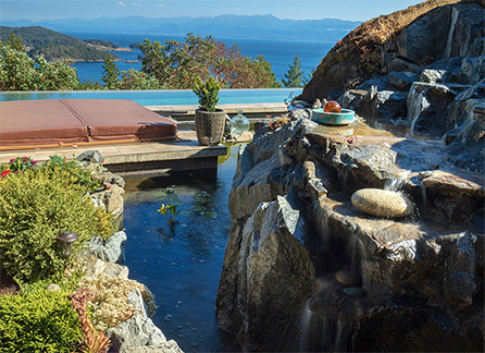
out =
<path fill-rule="evenodd" d="M 237 45 L 226 46 L 207 36 L 187 34 L 184 41 L 166 40 L 139 45 L 141 71 L 156 77 L 166 89 L 192 88 L 196 77 L 213 76 L 227 88 L 271 88 L 279 84 L 271 64 L 261 56 L 244 57 Z"/>

